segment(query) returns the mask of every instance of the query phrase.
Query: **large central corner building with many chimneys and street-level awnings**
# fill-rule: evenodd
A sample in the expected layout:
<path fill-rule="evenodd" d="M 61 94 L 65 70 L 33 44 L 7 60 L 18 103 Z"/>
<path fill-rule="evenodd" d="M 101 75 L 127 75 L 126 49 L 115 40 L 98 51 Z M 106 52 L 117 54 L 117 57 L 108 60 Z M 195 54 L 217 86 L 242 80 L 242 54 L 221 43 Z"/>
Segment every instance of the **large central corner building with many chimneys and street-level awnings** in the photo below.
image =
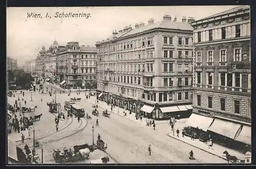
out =
<path fill-rule="evenodd" d="M 153 118 L 189 115 L 182 112 L 192 104 L 191 21 L 164 15 L 97 42 L 98 99 Z"/>

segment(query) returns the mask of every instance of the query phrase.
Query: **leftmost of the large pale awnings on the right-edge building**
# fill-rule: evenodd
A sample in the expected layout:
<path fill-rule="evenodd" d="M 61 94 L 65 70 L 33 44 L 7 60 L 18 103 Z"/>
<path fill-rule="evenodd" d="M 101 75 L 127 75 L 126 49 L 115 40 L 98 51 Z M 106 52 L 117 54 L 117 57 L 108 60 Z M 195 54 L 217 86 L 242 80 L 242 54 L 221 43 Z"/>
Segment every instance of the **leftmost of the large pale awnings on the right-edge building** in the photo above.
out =
<path fill-rule="evenodd" d="M 186 125 L 207 131 L 213 120 L 214 118 L 192 113 L 188 118 Z"/>

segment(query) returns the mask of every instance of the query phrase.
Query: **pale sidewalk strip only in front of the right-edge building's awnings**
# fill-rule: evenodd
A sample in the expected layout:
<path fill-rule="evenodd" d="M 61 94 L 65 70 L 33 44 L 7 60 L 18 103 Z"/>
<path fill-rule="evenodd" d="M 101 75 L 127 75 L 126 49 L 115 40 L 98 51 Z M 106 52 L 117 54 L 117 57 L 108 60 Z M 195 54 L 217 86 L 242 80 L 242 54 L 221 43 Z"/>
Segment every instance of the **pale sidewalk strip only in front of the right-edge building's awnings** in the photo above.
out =
<path fill-rule="evenodd" d="M 173 135 L 173 132 L 171 132 L 171 133 L 168 133 L 167 135 L 169 137 L 173 137 L 173 138 L 178 139 L 182 142 L 190 144 L 191 146 L 194 146 L 198 149 L 206 151 L 210 154 L 214 154 L 216 156 L 219 156 L 219 157 L 221 157 L 225 160 L 226 160 L 226 156 L 223 154 L 224 151 L 227 151 L 231 156 L 236 156 L 239 159 L 239 162 L 240 162 L 240 160 L 245 159 L 245 155 L 243 153 L 241 153 L 239 151 L 236 151 L 236 150 L 232 150 L 232 149 L 223 147 L 223 146 L 220 146 L 217 143 L 214 143 L 212 148 L 208 148 L 207 142 L 202 142 L 199 139 L 191 140 L 191 137 L 188 137 L 188 136 L 182 137 L 181 133 L 180 133 L 179 137 L 177 137 L 176 132 L 174 134 L 175 135 Z"/>

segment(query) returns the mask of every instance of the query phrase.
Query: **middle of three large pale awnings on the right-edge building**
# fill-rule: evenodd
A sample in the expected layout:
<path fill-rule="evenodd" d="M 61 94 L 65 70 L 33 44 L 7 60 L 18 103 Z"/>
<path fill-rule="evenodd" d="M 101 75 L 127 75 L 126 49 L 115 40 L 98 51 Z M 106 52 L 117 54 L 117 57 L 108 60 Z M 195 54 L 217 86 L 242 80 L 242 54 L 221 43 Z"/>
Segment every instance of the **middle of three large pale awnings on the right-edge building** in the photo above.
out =
<path fill-rule="evenodd" d="M 211 124 L 208 130 L 234 139 L 240 127 L 241 125 L 238 123 L 215 118 L 214 123 Z"/>

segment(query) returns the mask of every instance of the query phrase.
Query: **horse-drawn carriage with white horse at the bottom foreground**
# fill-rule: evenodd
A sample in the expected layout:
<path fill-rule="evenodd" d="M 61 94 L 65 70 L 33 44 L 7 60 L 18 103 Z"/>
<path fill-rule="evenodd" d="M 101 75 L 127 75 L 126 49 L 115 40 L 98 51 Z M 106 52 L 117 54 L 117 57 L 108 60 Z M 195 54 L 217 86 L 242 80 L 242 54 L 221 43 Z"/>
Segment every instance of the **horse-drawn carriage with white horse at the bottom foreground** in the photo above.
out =
<path fill-rule="evenodd" d="M 88 159 L 90 155 L 90 149 L 80 149 L 77 152 L 72 151 L 71 149 L 63 149 L 61 153 L 60 150 L 54 149 L 53 150 L 53 158 L 55 159 L 56 163 L 66 163 L 72 161 L 80 161 L 84 159 Z"/>

